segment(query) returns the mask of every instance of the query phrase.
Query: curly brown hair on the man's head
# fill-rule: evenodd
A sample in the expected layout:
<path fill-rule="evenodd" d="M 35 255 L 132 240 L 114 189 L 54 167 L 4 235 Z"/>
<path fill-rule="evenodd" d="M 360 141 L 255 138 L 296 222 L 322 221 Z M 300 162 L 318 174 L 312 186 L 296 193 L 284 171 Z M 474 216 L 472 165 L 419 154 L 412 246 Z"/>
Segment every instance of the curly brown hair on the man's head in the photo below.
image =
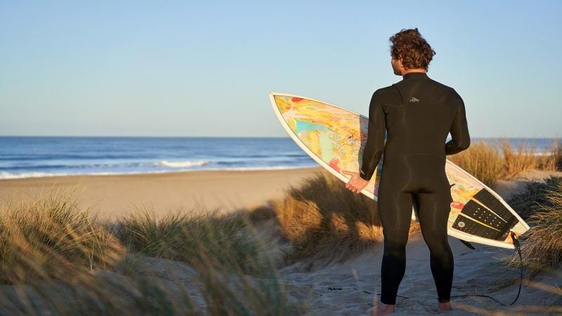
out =
<path fill-rule="evenodd" d="M 402 58 L 406 69 L 423 68 L 427 70 L 435 51 L 421 37 L 417 28 L 403 29 L 391 36 L 391 55 L 394 59 Z"/>

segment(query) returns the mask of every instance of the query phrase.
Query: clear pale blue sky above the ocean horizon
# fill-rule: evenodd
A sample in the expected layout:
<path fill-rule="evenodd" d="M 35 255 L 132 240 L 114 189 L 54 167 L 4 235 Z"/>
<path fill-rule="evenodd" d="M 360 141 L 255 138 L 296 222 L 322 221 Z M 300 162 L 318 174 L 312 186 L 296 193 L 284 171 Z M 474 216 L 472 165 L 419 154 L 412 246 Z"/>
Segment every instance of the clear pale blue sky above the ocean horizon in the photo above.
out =
<path fill-rule="evenodd" d="M 562 137 L 562 1 L 0 1 L 0 135 L 286 136 L 270 91 L 366 114 L 418 27 L 473 137 Z"/>

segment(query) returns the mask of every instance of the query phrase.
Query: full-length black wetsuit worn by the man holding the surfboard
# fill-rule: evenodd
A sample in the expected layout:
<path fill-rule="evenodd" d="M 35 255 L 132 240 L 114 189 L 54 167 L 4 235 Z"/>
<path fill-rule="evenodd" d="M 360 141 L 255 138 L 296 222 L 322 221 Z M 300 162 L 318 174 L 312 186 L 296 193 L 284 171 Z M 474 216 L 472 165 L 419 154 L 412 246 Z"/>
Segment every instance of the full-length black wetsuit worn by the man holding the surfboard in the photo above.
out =
<path fill-rule="evenodd" d="M 449 133 L 452 140 L 445 144 Z M 427 74 L 405 74 L 402 81 L 373 94 L 360 176 L 370 180 L 384 152 L 378 195 L 384 233 L 382 303 L 396 303 L 404 276 L 412 201 L 418 206 L 421 232 L 431 253 L 439 301 L 449 301 L 453 258 L 447 218 L 452 199 L 445 155 L 465 150 L 469 144 L 462 98 Z"/>

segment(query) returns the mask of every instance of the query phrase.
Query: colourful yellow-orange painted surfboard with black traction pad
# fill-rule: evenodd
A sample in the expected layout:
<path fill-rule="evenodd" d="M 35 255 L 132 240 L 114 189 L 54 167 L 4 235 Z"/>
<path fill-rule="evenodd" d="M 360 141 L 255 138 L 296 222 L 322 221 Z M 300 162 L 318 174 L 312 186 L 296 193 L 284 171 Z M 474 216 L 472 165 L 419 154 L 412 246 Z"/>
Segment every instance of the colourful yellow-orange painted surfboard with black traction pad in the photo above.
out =
<path fill-rule="evenodd" d="M 344 170 L 358 172 L 367 140 L 368 118 L 320 100 L 286 93 L 270 93 L 281 125 L 315 162 L 347 183 Z M 362 194 L 377 200 L 381 162 Z M 510 232 L 519 236 L 529 229 L 525 221 L 490 187 L 449 160 L 445 173 L 451 186 L 447 233 L 466 242 L 514 248 Z M 418 220 L 416 206 L 412 219 Z"/>

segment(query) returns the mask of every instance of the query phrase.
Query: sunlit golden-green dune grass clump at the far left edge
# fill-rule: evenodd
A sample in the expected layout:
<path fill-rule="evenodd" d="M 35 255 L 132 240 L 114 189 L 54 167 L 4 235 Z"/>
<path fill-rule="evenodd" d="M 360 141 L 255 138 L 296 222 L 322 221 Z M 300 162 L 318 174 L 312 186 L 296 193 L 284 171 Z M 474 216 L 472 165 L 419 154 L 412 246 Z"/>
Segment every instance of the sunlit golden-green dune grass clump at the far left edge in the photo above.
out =
<path fill-rule="evenodd" d="M 95 219 L 91 211 L 78 208 L 74 191 L 0 204 L 0 282 L 18 284 L 96 268 L 111 270 L 124 249 L 93 224 Z"/>

